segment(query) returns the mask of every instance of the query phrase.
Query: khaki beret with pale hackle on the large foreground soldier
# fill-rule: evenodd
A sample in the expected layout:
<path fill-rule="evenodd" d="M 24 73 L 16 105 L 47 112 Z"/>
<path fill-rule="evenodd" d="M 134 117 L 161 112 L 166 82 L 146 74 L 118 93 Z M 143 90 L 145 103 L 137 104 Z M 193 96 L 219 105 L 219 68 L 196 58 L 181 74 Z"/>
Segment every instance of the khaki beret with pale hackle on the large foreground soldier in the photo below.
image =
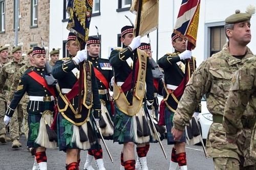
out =
<path fill-rule="evenodd" d="M 225 20 L 226 24 L 234 24 L 239 22 L 248 21 L 250 22 L 251 15 L 255 13 L 254 6 L 248 6 L 245 13 L 241 13 L 239 9 L 234 14 L 228 16 Z"/>

